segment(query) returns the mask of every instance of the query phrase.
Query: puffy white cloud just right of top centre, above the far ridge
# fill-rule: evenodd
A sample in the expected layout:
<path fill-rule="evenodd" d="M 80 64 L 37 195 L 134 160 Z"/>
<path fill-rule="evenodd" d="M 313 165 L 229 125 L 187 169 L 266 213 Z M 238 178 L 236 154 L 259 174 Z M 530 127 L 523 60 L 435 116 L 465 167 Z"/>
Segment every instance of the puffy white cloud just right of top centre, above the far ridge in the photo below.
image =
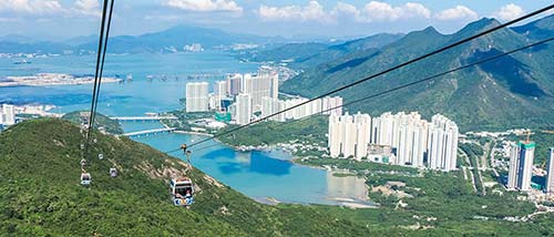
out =
<path fill-rule="evenodd" d="M 332 22 L 330 16 L 325 11 L 318 1 L 310 1 L 307 6 L 285 6 L 268 7 L 260 6 L 258 14 L 263 20 L 301 20 L 301 21 L 321 21 Z"/>

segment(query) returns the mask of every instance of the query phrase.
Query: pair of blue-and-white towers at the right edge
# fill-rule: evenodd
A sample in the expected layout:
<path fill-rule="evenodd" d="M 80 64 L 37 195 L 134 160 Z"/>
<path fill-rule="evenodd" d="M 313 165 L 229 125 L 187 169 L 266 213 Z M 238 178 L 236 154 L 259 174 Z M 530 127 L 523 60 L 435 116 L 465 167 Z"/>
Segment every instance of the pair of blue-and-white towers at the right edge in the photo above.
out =
<path fill-rule="evenodd" d="M 554 148 L 550 148 L 546 165 L 546 183 L 544 190 L 554 194 Z M 507 173 L 507 188 L 512 190 L 531 190 L 533 187 L 533 161 L 535 143 L 521 141 L 510 147 L 510 171 Z"/>

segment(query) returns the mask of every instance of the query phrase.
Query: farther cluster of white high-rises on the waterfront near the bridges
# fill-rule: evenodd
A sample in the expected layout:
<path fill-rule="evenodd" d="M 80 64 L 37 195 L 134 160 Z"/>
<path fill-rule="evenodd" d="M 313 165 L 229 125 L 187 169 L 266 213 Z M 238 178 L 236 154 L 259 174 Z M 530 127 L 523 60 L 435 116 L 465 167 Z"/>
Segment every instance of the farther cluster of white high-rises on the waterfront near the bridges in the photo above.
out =
<path fill-rule="evenodd" d="M 294 109 L 268 120 L 285 122 L 317 113 L 342 113 L 342 99 L 338 96 L 300 105 L 308 99 L 279 100 L 278 95 L 279 78 L 276 72 L 260 70 L 257 74 L 232 74 L 225 81 L 215 82 L 213 93 L 209 93 L 207 82 L 187 83 L 186 112 L 226 112 L 240 125 L 291 107 Z"/>

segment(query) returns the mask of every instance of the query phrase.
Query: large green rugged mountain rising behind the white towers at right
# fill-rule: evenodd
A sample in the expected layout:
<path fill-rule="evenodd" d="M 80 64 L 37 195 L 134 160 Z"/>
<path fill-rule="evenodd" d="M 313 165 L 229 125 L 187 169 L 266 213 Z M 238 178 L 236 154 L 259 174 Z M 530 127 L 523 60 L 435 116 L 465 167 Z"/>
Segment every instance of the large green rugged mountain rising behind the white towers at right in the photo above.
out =
<path fill-rule="evenodd" d="M 450 35 L 441 34 L 433 28 L 411 32 L 382 49 L 360 50 L 306 70 L 297 78 L 285 82 L 281 89 L 287 93 L 311 97 L 497 24 L 494 19 L 482 19 Z M 339 95 L 345 97 L 345 102 L 365 97 L 496 55 L 529 42 L 529 38 L 514 30 L 503 29 L 345 90 Z M 464 131 L 548 126 L 554 124 L 552 123 L 554 65 L 551 63 L 553 60 L 552 43 L 536 47 L 348 109 L 373 115 L 387 111 L 420 111 L 428 117 L 434 113 L 443 113 L 456 121 Z"/>

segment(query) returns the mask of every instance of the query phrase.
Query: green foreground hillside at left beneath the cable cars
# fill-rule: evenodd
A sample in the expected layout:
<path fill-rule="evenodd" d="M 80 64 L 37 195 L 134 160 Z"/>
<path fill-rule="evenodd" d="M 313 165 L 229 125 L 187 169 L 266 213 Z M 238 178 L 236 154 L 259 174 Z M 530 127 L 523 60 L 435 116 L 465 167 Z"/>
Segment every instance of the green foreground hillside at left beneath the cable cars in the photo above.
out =
<path fill-rule="evenodd" d="M 90 188 L 80 186 L 79 127 L 28 121 L 0 133 L 0 236 L 310 236 L 380 231 L 317 207 L 258 204 L 146 145 L 95 133 Z M 98 153 L 104 154 L 99 161 Z M 110 167 L 120 176 L 111 178 Z M 174 207 L 167 181 L 197 185 L 192 209 Z"/>

